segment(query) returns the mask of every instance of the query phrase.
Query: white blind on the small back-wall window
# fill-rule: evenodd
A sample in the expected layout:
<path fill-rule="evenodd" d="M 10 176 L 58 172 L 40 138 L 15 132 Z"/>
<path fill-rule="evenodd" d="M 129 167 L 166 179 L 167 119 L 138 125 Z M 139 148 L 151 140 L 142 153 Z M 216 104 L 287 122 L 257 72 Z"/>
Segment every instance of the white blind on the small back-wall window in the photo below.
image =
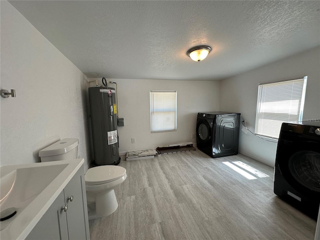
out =
<path fill-rule="evenodd" d="M 176 130 L 176 91 L 150 91 L 151 132 Z"/>

